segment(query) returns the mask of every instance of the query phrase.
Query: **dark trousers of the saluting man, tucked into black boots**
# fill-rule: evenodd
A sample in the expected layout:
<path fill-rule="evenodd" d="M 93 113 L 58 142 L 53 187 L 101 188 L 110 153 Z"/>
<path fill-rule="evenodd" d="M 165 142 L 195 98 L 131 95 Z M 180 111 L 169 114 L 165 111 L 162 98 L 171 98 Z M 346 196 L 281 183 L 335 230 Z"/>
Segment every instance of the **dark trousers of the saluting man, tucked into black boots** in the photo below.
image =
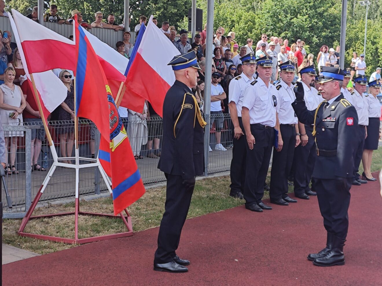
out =
<path fill-rule="evenodd" d="M 350 187 L 352 178 L 314 178 L 318 205 L 327 232 L 345 239 L 348 234 Z"/>

